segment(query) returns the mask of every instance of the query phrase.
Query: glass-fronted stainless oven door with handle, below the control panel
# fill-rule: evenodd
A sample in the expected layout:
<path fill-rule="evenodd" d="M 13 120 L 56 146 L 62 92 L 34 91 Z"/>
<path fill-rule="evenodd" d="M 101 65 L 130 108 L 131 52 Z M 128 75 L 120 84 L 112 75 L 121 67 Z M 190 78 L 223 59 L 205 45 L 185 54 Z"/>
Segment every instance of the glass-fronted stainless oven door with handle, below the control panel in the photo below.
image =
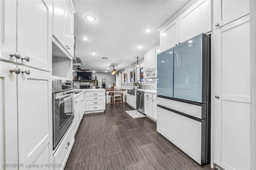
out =
<path fill-rule="evenodd" d="M 54 148 L 74 119 L 74 91 L 53 94 L 53 143 Z"/>

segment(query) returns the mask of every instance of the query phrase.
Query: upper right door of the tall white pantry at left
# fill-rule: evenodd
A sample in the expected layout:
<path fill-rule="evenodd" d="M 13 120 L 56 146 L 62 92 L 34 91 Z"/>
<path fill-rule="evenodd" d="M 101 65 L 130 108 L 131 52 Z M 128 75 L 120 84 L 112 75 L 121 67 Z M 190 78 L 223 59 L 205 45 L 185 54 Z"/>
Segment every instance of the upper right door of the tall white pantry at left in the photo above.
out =
<path fill-rule="evenodd" d="M 52 71 L 51 3 L 45 0 L 17 1 L 17 52 L 29 61 L 18 63 Z"/>

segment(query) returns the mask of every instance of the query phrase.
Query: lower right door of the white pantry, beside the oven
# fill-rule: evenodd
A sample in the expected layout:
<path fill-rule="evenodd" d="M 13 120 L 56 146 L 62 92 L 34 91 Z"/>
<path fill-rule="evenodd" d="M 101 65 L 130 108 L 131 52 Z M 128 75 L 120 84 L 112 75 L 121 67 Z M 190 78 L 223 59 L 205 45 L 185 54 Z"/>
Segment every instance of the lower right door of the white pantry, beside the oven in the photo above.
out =
<path fill-rule="evenodd" d="M 30 70 L 17 75 L 19 163 L 52 163 L 52 74 L 18 67 Z"/>

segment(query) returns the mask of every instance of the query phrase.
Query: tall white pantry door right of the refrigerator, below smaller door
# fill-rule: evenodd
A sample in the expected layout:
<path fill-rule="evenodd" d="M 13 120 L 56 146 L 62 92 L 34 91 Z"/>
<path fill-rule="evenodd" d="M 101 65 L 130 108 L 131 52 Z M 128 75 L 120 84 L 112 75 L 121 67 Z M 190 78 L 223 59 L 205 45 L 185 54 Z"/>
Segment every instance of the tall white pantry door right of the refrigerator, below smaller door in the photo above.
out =
<path fill-rule="evenodd" d="M 250 169 L 249 16 L 216 30 L 214 163 Z"/>

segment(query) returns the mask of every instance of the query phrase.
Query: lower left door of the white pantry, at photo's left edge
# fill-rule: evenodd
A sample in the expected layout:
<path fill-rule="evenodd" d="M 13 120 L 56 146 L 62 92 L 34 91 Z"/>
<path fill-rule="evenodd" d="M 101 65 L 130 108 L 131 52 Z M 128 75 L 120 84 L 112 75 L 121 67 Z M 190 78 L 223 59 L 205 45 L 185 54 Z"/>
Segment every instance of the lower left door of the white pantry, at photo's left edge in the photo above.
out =
<path fill-rule="evenodd" d="M 9 71 L 14 68 L 16 68 L 16 65 L 0 61 L 1 165 L 10 162 L 18 163 L 17 75 Z M 6 169 L 8 170 L 8 168 Z M 10 169 L 18 170 L 18 168 L 13 167 Z"/>

